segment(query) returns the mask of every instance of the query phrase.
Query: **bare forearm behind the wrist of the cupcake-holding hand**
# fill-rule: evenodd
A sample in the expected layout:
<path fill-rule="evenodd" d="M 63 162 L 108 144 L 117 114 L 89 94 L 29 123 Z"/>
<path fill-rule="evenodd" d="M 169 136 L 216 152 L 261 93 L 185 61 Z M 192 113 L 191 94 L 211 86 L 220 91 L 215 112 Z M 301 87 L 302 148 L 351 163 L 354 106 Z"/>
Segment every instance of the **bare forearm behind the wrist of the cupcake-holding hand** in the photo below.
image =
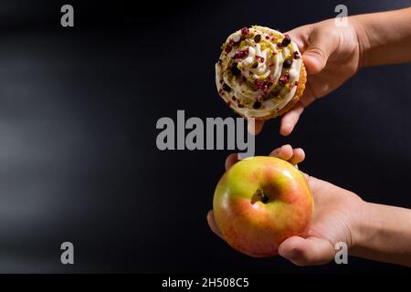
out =
<path fill-rule="evenodd" d="M 411 8 L 350 17 L 361 51 L 361 67 L 411 61 Z"/>

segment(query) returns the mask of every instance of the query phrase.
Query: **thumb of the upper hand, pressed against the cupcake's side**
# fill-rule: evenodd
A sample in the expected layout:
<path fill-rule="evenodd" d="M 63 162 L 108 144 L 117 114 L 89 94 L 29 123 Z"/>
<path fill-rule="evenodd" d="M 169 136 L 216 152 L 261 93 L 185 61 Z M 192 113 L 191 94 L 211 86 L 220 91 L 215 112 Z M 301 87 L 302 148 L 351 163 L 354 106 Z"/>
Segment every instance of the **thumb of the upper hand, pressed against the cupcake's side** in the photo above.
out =
<path fill-rule="evenodd" d="M 327 64 L 330 55 L 338 46 L 338 38 L 327 36 L 324 32 L 314 30 L 310 36 L 308 47 L 302 54 L 309 74 L 317 74 Z"/>

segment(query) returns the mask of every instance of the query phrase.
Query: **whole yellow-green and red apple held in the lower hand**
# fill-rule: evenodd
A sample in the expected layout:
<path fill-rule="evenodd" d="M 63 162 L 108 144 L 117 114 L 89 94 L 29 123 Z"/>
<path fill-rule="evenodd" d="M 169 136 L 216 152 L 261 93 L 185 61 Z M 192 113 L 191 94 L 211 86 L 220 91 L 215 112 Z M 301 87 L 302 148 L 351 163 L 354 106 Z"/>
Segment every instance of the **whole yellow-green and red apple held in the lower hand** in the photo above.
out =
<path fill-rule="evenodd" d="M 307 235 L 314 202 L 304 175 L 275 157 L 234 164 L 216 186 L 213 213 L 227 243 L 250 256 L 278 255 L 287 238 Z"/>

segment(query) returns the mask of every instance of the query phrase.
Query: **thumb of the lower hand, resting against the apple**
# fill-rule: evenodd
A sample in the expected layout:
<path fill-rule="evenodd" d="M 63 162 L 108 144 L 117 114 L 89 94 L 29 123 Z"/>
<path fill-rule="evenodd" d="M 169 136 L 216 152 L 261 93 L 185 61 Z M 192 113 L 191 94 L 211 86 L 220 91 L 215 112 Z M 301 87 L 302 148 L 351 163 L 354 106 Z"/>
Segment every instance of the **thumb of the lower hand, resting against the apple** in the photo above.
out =
<path fill-rule="evenodd" d="M 328 240 L 322 238 L 292 236 L 279 245 L 279 255 L 297 266 L 314 266 L 330 262 L 335 250 Z"/>

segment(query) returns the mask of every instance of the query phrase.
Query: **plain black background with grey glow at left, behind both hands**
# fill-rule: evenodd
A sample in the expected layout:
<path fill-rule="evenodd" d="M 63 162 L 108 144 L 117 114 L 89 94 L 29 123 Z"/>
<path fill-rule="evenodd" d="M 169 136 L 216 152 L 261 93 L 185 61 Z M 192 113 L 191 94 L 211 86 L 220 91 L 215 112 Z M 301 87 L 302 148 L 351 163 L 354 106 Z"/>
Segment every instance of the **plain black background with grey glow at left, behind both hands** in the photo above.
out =
<path fill-rule="evenodd" d="M 242 26 L 281 31 L 409 1 L 224 1 L 0 4 L 1 272 L 405 271 L 349 259 L 300 268 L 237 254 L 205 214 L 229 151 L 158 151 L 161 117 L 236 117 L 216 93 L 214 64 Z M 257 154 L 283 143 L 301 168 L 376 203 L 411 207 L 411 65 L 366 68 L 307 110 L 288 138 L 279 120 Z M 74 266 L 59 246 L 75 245 Z"/>

